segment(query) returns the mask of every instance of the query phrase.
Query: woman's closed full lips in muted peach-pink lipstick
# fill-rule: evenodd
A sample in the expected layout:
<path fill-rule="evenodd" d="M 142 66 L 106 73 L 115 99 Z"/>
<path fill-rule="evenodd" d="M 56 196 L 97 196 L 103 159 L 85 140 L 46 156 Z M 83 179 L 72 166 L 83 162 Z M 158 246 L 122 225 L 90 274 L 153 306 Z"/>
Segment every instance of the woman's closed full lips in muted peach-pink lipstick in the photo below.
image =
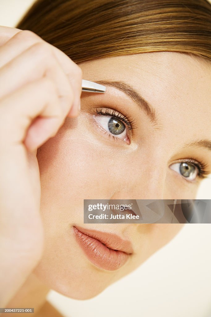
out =
<path fill-rule="evenodd" d="M 115 234 L 75 226 L 73 231 L 84 254 L 98 268 L 115 271 L 121 268 L 133 253 L 130 241 Z"/>

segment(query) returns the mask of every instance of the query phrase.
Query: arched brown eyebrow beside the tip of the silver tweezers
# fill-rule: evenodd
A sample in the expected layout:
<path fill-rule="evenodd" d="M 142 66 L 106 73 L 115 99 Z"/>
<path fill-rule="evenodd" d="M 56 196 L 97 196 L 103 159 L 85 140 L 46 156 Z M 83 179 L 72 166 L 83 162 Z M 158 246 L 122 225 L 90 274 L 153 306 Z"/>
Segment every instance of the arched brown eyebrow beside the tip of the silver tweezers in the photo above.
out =
<path fill-rule="evenodd" d="M 142 109 L 146 115 L 149 117 L 150 121 L 155 125 L 158 125 L 158 119 L 155 114 L 155 109 L 150 105 L 148 101 L 146 101 L 133 87 L 126 84 L 123 81 L 106 81 L 100 80 L 95 81 L 97 84 L 115 87 L 125 94 L 127 94 L 137 105 Z"/>

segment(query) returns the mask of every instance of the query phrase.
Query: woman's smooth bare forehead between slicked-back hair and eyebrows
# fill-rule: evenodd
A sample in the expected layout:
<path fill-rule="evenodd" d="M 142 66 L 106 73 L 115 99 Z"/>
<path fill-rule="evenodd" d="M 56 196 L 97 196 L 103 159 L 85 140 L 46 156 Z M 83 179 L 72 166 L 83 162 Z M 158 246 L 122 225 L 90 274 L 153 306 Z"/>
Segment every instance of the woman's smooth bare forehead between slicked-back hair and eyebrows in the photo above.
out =
<path fill-rule="evenodd" d="M 211 136 L 211 62 L 177 52 L 153 52 L 79 63 L 83 78 L 125 81 L 155 108 L 168 126 Z M 162 122 L 162 125 L 165 125 Z M 184 126 L 185 124 L 185 126 Z M 184 132 L 185 132 L 184 131 Z M 193 136 L 193 133 L 191 133 Z"/>

